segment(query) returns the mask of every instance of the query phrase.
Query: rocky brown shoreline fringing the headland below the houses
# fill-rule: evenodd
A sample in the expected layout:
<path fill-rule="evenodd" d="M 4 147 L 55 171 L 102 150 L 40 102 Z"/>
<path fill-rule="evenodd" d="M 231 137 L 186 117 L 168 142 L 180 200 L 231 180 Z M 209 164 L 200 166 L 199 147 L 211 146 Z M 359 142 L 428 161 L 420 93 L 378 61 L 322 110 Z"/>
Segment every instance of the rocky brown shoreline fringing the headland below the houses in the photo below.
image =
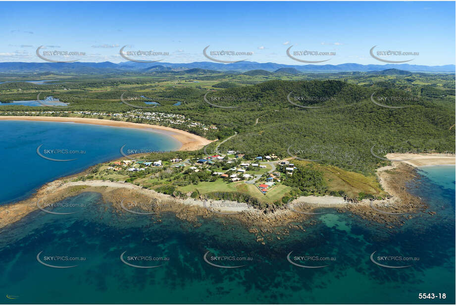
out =
<path fill-rule="evenodd" d="M 454 158 L 453 156 L 445 157 Z M 429 166 L 435 165 L 434 160 L 427 160 L 431 163 Z M 448 158 L 442 159 L 442 162 L 444 161 L 448 163 Z M 189 222 L 197 222 L 197 216 L 203 216 L 203 218 L 205 218 L 218 215 L 220 217 L 233 217 L 241 220 L 248 226 L 259 226 L 263 228 L 264 226 L 274 227 L 289 225 L 292 221 L 307 220 L 312 215 L 312 213 L 300 212 L 302 209 L 290 209 L 288 205 L 260 209 L 246 203 L 175 198 L 170 195 L 157 193 L 154 190 L 142 188 L 133 183 L 97 180 L 72 181 L 81 175 L 87 174 L 89 171 L 90 168 L 81 173 L 57 179 L 42 186 L 29 199 L 0 206 L 0 230 L 5 226 L 20 220 L 32 211 L 39 209 L 37 207 L 37 201 L 54 203 L 82 192 L 101 193 L 103 200 L 111 202 L 119 213 L 128 213 L 120 205 L 122 199 L 129 198 L 133 201 L 138 201 L 138 199 L 142 199 L 141 201 L 150 201 L 151 199 L 154 199 L 165 204 L 164 206 L 159 207 L 159 211 L 175 212 L 178 218 Z M 333 196 L 302 196 L 292 201 L 290 204 L 304 204 L 306 205 L 304 210 L 307 212 L 318 207 L 331 207 L 337 212 L 350 211 L 360 216 L 362 219 L 384 223 L 388 228 L 403 225 L 406 219 L 412 218 L 412 215 L 408 214 L 409 212 L 412 213 L 420 210 L 430 214 L 435 213 L 425 211 L 428 208 L 427 205 L 422 203 L 419 198 L 409 194 L 404 188 L 405 183 L 419 177 L 414 166 L 403 161 L 395 161 L 391 166 L 378 168 L 377 176 L 382 188 L 390 195 L 387 199 L 351 201 Z M 221 204 L 226 203 L 233 205 L 221 206 Z M 240 209 L 239 204 L 244 208 Z M 385 211 L 388 210 L 390 214 L 378 213 L 379 210 L 373 208 L 373 205 L 376 207 L 388 207 L 382 209 Z M 256 228 L 252 230 L 252 233 L 257 236 L 257 242 L 264 243 L 261 233 L 257 232 Z"/>

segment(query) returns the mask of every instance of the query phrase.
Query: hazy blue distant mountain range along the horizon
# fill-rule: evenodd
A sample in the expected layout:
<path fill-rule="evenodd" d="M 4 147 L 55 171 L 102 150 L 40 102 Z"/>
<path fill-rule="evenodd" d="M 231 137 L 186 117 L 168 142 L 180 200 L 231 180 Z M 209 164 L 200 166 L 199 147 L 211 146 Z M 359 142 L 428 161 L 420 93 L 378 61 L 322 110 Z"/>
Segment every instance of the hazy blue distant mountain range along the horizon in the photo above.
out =
<path fill-rule="evenodd" d="M 183 71 L 188 69 L 212 70 L 228 73 L 242 73 L 252 70 L 263 70 L 268 72 L 280 72 L 297 74 L 300 72 L 369 72 L 396 69 L 410 72 L 431 72 L 431 73 L 455 73 L 455 65 L 425 66 L 411 64 L 385 64 L 385 65 L 361 65 L 346 63 L 339 65 L 284 65 L 277 63 L 258 63 L 242 61 L 237 63 L 222 64 L 216 62 L 193 62 L 193 63 L 137 63 L 122 62 L 111 63 L 109 61 L 74 62 L 74 63 L 29 63 L 29 62 L 2 62 L 0 72 L 60 72 L 60 73 L 122 73 L 126 71 L 140 73 L 157 73 Z M 200 70 L 200 72 L 202 72 Z"/>

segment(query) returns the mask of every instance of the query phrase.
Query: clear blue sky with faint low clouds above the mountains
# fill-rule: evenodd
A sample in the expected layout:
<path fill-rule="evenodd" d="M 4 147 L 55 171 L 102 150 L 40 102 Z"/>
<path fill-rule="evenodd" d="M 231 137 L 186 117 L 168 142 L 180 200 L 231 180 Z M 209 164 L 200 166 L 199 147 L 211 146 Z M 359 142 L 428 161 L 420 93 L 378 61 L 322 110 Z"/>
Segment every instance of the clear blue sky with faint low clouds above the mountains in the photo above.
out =
<path fill-rule="evenodd" d="M 77 51 L 57 60 L 126 61 L 126 51 L 164 62 L 209 61 L 210 51 L 253 52 L 221 60 L 304 64 L 385 64 L 369 50 L 419 54 L 379 57 L 421 65 L 455 64 L 455 2 L 0 2 L 0 61 L 45 62 L 41 51 Z M 131 46 L 131 47 L 130 47 Z M 311 55 L 295 51 L 334 52 Z M 375 53 L 376 54 L 376 53 Z"/>

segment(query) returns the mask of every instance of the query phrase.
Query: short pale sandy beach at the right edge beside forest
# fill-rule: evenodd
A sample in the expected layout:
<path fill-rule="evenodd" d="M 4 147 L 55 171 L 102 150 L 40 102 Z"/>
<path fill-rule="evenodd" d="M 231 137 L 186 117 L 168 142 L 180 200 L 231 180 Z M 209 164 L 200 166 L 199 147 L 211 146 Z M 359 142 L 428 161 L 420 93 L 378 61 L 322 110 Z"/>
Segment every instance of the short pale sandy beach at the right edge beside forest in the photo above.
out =
<path fill-rule="evenodd" d="M 389 153 L 386 158 L 395 161 L 402 161 L 413 167 L 438 166 L 438 165 L 454 165 L 456 157 L 452 154 L 414 154 L 414 153 Z"/>

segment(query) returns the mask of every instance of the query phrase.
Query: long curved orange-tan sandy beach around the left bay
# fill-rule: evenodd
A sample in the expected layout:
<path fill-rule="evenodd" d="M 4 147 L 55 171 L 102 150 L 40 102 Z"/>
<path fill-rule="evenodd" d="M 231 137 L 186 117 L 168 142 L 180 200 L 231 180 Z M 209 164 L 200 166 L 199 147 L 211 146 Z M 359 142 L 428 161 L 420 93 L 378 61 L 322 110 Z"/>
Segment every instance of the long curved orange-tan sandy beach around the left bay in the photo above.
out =
<path fill-rule="evenodd" d="M 152 129 L 154 132 L 169 135 L 179 141 L 182 145 L 179 151 L 194 151 L 203 148 L 212 141 L 192 133 L 173 129 L 161 125 L 152 125 L 146 123 L 132 123 L 125 121 L 114 121 L 93 118 L 78 117 L 47 117 L 47 116 L 0 116 L 0 120 L 26 120 L 26 121 L 48 121 L 48 122 L 74 122 L 83 124 L 97 124 L 124 128 Z"/>

